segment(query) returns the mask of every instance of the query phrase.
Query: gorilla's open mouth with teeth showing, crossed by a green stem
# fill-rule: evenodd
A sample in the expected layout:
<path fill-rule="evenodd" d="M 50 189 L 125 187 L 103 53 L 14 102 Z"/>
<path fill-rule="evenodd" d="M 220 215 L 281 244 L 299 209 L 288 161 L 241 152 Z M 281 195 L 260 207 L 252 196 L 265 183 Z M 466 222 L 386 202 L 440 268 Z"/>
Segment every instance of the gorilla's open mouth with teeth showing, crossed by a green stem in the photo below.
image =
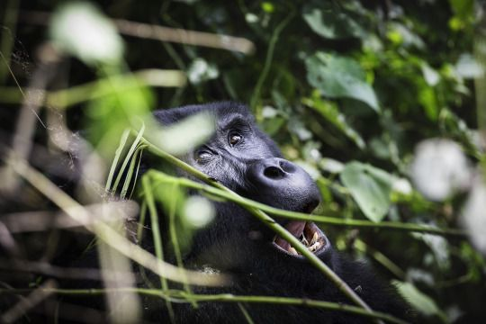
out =
<path fill-rule="evenodd" d="M 290 221 L 285 226 L 285 229 L 287 229 L 295 238 L 299 238 L 301 243 L 316 256 L 320 256 L 320 254 L 324 253 L 330 247 L 329 239 L 324 232 L 311 221 Z M 279 252 L 284 252 L 292 257 L 304 258 L 302 254 L 297 252 L 297 250 L 292 247 L 289 242 L 284 240 L 284 238 L 275 236 L 273 245 Z"/>

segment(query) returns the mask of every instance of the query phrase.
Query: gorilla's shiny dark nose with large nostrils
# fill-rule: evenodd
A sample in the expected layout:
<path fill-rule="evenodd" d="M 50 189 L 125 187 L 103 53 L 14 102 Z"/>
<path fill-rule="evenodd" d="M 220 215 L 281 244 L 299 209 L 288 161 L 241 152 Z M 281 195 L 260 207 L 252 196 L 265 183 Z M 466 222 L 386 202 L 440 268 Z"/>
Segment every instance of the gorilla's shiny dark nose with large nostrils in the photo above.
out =
<path fill-rule="evenodd" d="M 280 157 L 257 160 L 247 168 L 247 179 L 260 202 L 293 211 L 313 210 L 320 202 L 319 190 L 301 166 Z"/>

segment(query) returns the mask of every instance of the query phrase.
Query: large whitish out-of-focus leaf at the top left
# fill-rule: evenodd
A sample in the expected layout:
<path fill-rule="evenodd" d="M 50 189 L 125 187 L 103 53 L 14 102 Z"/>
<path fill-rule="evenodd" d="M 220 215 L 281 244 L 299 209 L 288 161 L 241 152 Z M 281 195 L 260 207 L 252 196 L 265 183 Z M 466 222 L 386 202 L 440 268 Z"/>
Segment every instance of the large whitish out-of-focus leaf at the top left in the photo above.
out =
<path fill-rule="evenodd" d="M 89 65 L 116 63 L 123 54 L 123 43 L 116 27 L 87 2 L 59 7 L 52 17 L 49 33 L 58 49 Z"/>

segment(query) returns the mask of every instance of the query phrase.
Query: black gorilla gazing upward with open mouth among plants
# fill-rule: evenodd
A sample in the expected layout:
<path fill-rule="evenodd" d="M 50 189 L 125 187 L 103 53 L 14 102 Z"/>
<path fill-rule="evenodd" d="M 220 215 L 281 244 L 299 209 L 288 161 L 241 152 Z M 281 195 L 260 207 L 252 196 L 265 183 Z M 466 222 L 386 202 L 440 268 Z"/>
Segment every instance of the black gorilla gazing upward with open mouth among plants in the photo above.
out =
<path fill-rule="evenodd" d="M 320 192 L 301 166 L 285 160 L 264 132 L 258 129 L 246 105 L 223 102 L 194 104 L 154 112 L 163 125 L 171 125 L 198 112 L 211 113 L 216 130 L 211 139 L 183 159 L 189 165 L 257 202 L 289 211 L 311 212 Z M 191 177 L 184 173 L 181 176 Z M 194 179 L 195 180 L 195 179 Z M 196 193 L 193 193 L 196 194 Z M 230 202 L 214 202 L 217 216 L 194 234 L 184 266 L 229 274 L 221 287 L 192 287 L 193 293 L 232 293 L 314 299 L 350 304 L 335 284 L 311 266 L 287 241 L 275 236 L 260 220 Z M 161 228 L 166 227 L 164 220 Z M 293 236 L 338 274 L 374 310 L 410 319 L 407 302 L 362 262 L 333 249 L 322 229 L 311 221 L 278 220 Z M 157 279 L 153 278 L 157 284 Z M 163 302 L 144 302 L 149 318 L 166 321 Z M 173 303 L 177 323 L 247 323 L 232 302 Z M 342 311 L 305 306 L 243 303 L 255 323 L 365 323 L 369 319 Z"/>

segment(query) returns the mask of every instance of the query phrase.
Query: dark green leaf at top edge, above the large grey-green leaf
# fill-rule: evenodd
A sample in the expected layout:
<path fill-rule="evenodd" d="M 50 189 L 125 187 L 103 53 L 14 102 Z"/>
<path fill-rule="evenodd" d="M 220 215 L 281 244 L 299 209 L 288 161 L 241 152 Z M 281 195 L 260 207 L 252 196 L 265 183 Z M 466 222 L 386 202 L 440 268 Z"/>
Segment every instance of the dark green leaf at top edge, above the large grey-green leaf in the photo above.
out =
<path fill-rule="evenodd" d="M 328 39 L 360 37 L 364 34 L 361 26 L 347 13 L 341 4 L 306 4 L 302 17 L 312 31 Z"/>

